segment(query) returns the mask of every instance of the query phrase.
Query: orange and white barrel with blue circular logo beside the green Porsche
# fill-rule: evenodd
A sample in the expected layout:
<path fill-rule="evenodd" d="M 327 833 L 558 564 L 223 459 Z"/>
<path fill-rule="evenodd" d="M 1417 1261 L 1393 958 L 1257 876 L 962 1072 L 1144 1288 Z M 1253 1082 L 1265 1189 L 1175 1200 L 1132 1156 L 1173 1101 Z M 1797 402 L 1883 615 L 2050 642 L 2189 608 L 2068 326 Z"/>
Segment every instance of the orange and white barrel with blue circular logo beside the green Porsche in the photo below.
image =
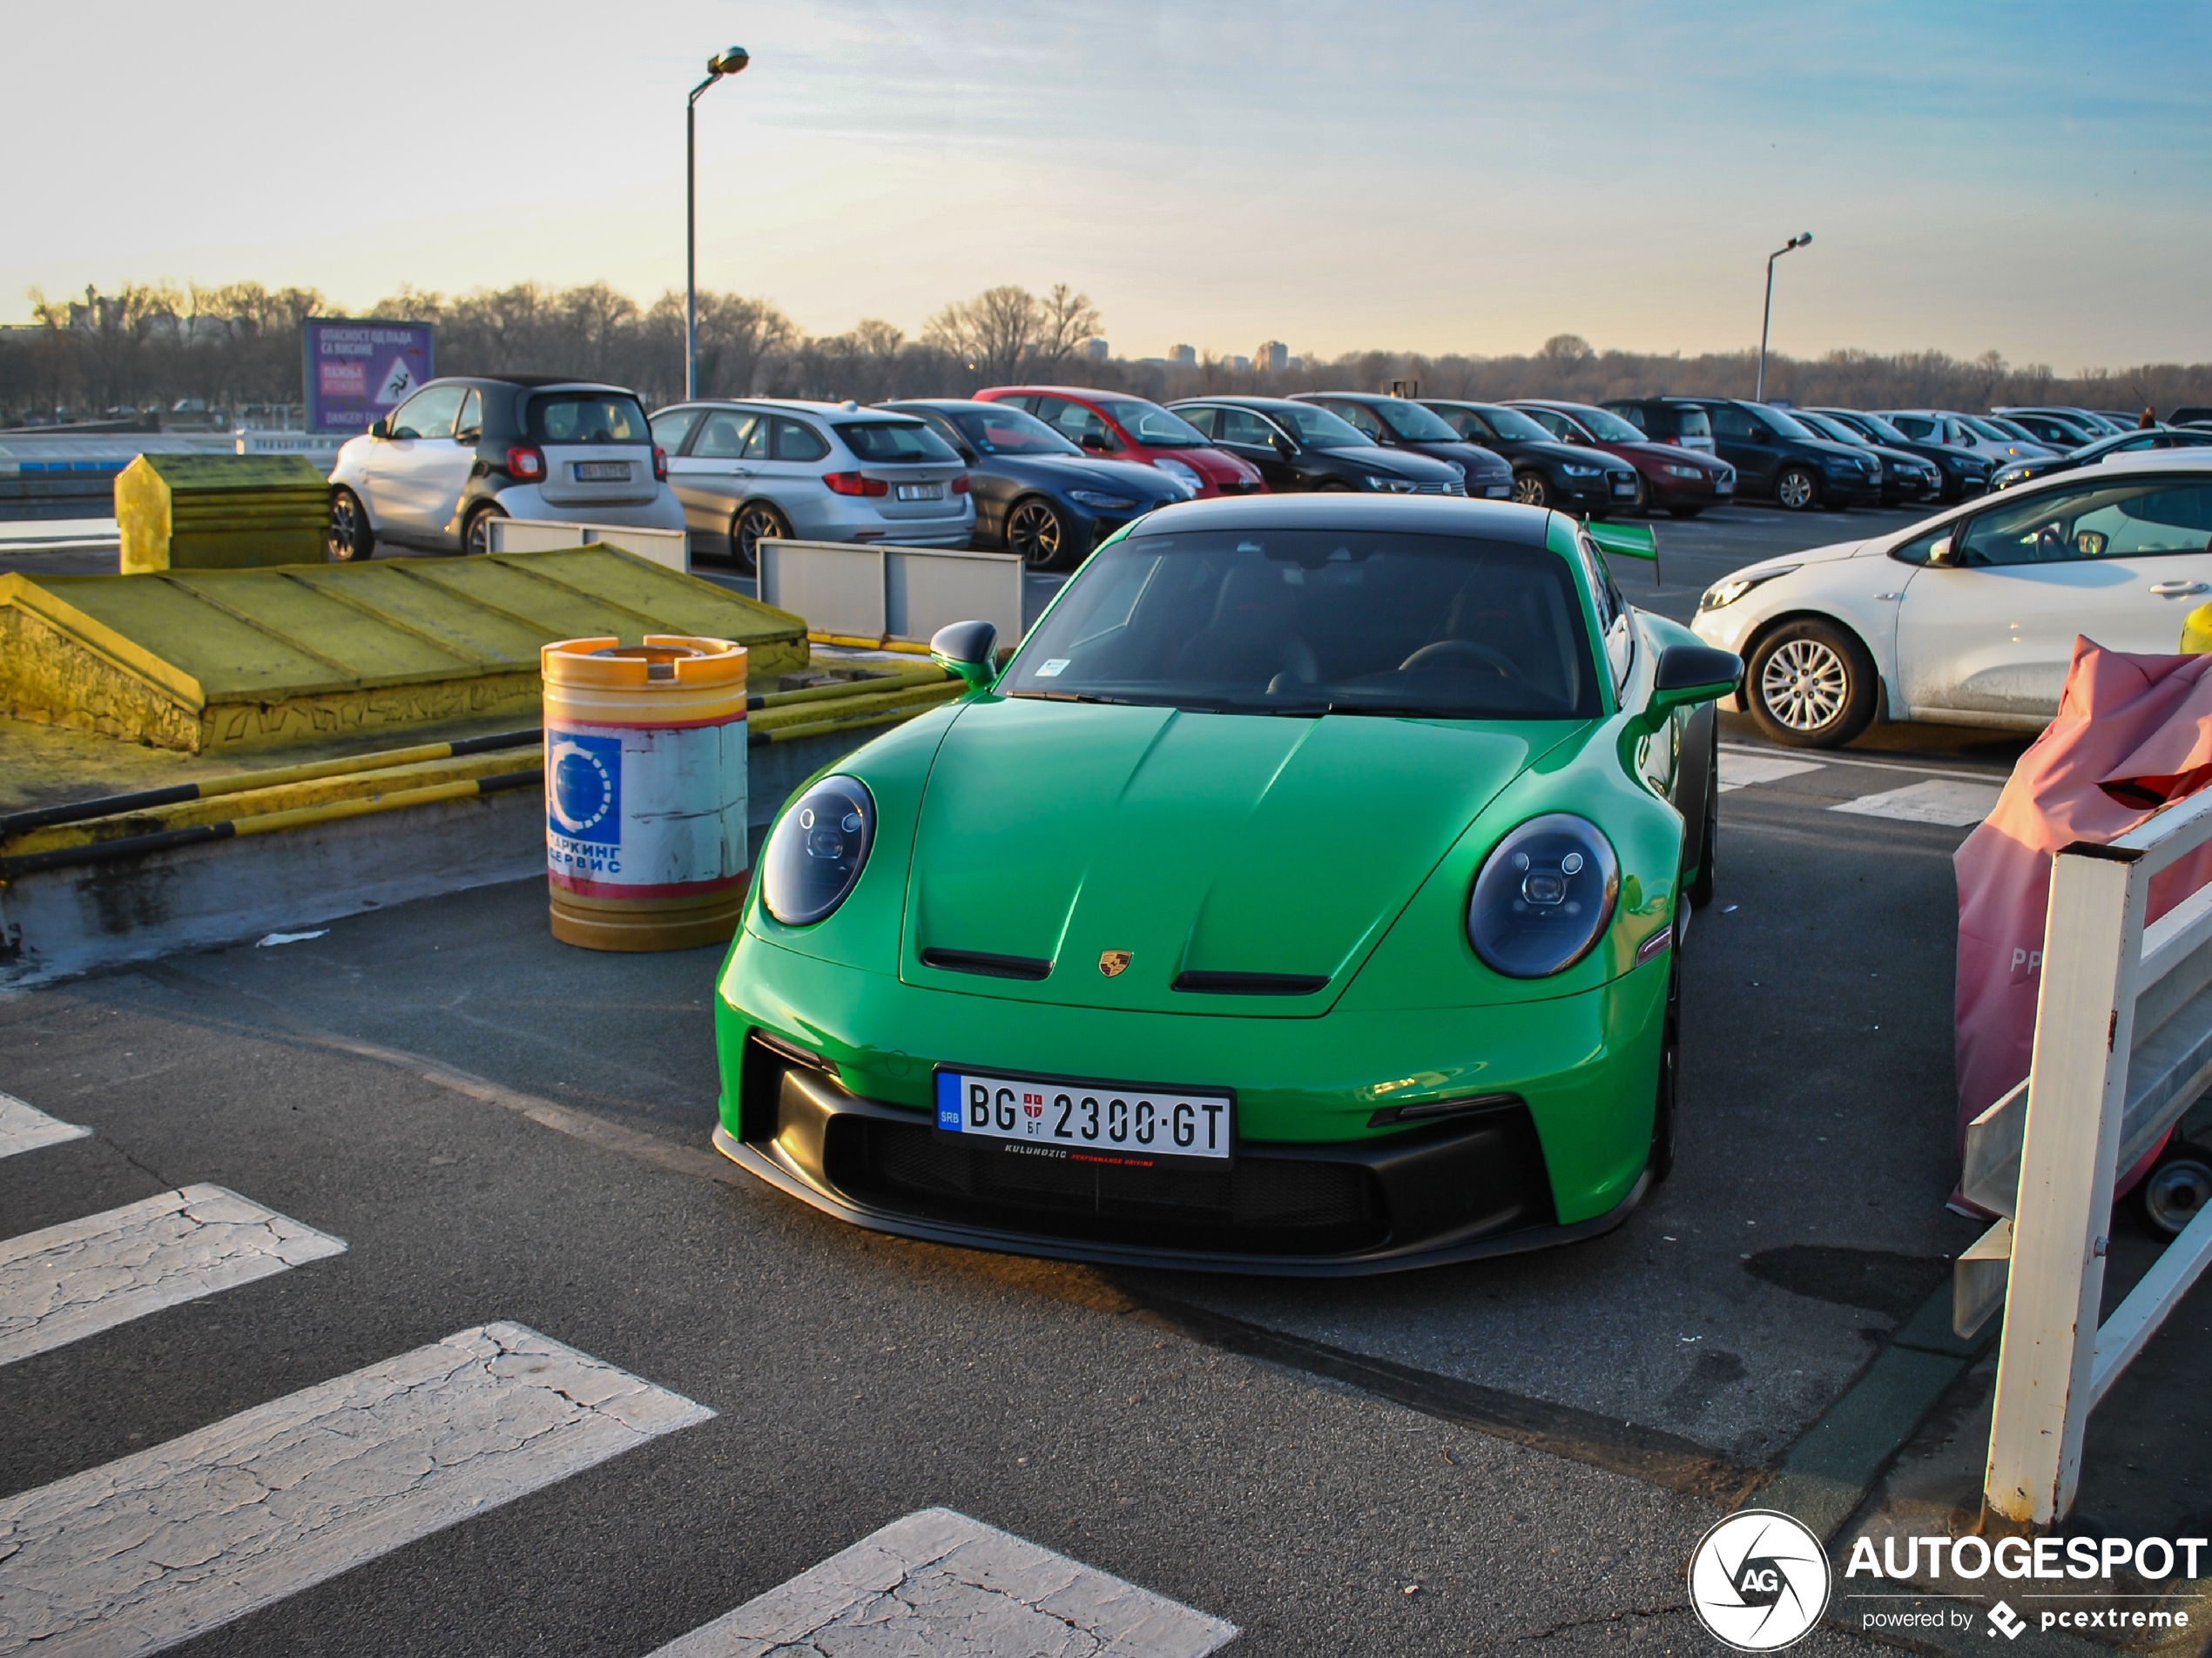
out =
<path fill-rule="evenodd" d="M 745 840 L 745 648 L 646 634 L 540 654 L 553 937 L 686 951 L 737 931 Z"/>

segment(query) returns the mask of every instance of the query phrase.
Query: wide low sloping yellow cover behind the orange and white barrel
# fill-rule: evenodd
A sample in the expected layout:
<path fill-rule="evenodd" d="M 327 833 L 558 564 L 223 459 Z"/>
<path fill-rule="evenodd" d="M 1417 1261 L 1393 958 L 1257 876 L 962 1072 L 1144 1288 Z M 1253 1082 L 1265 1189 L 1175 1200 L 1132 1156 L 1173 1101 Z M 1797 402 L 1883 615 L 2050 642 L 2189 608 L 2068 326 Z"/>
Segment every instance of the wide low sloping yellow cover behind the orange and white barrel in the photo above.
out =
<path fill-rule="evenodd" d="M 538 714 L 538 648 L 648 632 L 807 663 L 805 621 L 613 546 L 263 570 L 0 575 L 0 707 L 173 749 Z"/>

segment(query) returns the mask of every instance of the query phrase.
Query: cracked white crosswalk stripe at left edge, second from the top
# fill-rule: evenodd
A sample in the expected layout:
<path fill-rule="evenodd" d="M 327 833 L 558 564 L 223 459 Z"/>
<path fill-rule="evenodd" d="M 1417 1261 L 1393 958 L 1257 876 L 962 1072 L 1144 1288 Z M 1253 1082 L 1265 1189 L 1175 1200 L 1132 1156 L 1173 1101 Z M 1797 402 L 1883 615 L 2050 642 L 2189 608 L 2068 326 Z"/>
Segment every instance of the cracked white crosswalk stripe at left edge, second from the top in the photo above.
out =
<path fill-rule="evenodd" d="M 0 1242 L 0 1364 L 343 1249 L 219 1185 L 27 1231 Z"/>

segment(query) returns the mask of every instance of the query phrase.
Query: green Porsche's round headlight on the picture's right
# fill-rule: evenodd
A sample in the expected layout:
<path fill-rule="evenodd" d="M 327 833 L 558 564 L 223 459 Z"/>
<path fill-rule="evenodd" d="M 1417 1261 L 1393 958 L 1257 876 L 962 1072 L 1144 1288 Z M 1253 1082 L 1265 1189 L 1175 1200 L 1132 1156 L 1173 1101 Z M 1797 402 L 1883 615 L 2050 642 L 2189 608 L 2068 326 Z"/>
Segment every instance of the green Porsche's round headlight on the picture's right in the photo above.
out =
<path fill-rule="evenodd" d="M 1482 862 L 1467 900 L 1467 942 L 1493 973 L 1546 979 L 1604 937 L 1619 891 L 1621 867 L 1597 825 L 1548 811 Z"/>

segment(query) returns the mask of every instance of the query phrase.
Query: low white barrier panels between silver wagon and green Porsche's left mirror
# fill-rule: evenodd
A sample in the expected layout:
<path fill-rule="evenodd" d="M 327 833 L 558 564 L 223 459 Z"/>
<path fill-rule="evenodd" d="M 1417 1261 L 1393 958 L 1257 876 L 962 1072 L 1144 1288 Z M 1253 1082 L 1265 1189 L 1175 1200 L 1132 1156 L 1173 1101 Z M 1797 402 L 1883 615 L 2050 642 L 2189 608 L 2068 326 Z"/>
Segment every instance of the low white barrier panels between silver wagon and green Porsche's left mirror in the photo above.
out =
<path fill-rule="evenodd" d="M 794 610 L 807 632 L 929 639 L 949 621 L 989 621 L 1022 639 L 1022 559 L 936 546 L 761 542 L 761 604 Z"/>

